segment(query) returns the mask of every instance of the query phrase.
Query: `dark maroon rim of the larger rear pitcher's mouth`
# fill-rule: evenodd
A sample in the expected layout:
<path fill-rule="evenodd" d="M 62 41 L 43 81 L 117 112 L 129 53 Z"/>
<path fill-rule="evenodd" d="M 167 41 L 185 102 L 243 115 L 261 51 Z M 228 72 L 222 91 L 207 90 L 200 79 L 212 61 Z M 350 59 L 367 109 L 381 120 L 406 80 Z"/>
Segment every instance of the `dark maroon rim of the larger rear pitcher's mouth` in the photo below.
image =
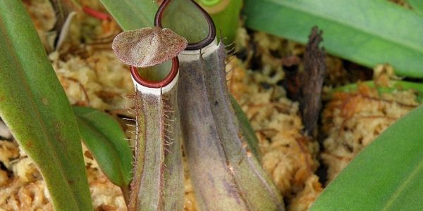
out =
<path fill-rule="evenodd" d="M 188 42 L 188 46 L 185 48 L 185 50 L 188 51 L 192 51 L 192 50 L 200 50 L 203 47 L 209 45 L 212 43 L 212 41 L 215 39 L 216 37 L 216 27 L 214 25 L 214 22 L 212 20 L 212 18 L 210 17 L 210 15 L 204 11 L 204 9 L 197 4 L 195 1 L 189 0 L 192 2 L 192 4 L 194 4 L 199 11 L 202 13 L 202 15 L 204 16 L 205 20 L 207 21 L 207 24 L 209 25 L 209 32 L 207 34 L 207 36 L 202 39 L 201 41 L 197 41 L 197 42 Z M 164 11 L 166 10 L 166 6 L 168 6 L 168 4 L 171 2 L 171 0 L 164 0 L 161 5 L 159 6 L 159 9 L 157 10 L 156 16 L 154 18 L 154 25 L 157 27 L 163 27 L 161 20 L 163 18 L 164 15 Z M 171 29 L 172 30 L 172 29 Z"/>

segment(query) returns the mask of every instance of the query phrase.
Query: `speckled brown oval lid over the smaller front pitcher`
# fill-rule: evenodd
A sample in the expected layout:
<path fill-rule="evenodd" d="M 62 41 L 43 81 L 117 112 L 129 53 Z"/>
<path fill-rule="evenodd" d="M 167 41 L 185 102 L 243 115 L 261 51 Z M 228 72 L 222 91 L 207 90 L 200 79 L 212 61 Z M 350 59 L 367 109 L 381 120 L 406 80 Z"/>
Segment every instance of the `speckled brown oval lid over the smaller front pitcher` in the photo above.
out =
<path fill-rule="evenodd" d="M 152 27 L 118 34 L 112 48 L 123 63 L 145 68 L 177 56 L 187 44 L 185 38 L 172 30 Z"/>

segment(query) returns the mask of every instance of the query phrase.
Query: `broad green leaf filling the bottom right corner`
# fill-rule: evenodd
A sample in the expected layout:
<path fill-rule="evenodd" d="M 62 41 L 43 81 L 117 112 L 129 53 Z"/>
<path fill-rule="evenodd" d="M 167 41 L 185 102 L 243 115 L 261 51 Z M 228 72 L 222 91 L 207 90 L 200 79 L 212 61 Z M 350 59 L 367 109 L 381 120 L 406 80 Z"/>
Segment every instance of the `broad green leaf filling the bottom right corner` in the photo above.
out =
<path fill-rule="evenodd" d="M 386 129 L 350 162 L 311 210 L 422 210 L 423 106 Z"/>

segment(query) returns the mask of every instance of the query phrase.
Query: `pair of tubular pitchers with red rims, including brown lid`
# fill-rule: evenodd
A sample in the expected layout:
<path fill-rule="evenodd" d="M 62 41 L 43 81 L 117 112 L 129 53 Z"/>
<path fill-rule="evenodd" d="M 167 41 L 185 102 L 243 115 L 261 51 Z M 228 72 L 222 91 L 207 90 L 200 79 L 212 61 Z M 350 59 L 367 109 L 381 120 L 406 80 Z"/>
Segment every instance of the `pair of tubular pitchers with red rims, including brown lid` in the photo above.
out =
<path fill-rule="evenodd" d="M 200 210 L 284 210 L 226 87 L 212 18 L 195 1 L 165 0 L 154 25 L 113 44 L 136 90 L 129 210 L 183 210 L 183 154 Z"/>

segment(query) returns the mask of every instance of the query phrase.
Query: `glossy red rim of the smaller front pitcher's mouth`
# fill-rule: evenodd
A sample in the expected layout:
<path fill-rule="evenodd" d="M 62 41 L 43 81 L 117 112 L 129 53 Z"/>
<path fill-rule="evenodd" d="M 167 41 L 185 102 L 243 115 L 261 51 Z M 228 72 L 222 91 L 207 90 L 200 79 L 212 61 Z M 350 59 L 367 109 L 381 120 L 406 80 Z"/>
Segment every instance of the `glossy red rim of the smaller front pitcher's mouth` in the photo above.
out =
<path fill-rule="evenodd" d="M 168 84 L 170 84 L 173 81 L 173 79 L 175 79 L 176 75 L 178 74 L 178 70 L 179 70 L 178 56 L 172 58 L 171 71 L 168 73 L 168 75 L 164 79 L 162 79 L 159 82 L 143 79 L 140 76 L 140 74 L 138 74 L 137 68 L 134 66 L 130 66 L 130 74 L 135 79 L 135 82 L 137 82 L 138 84 L 141 84 L 144 87 L 149 87 L 149 88 L 166 87 Z"/>

